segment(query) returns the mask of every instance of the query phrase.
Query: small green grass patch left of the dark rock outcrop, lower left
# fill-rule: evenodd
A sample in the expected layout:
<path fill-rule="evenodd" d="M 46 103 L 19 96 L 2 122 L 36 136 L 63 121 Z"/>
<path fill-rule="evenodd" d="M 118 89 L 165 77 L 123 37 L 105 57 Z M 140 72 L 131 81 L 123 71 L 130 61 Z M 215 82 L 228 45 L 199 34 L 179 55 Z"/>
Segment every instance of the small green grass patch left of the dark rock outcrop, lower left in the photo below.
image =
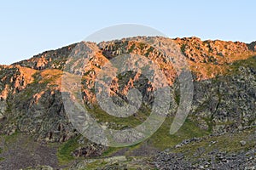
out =
<path fill-rule="evenodd" d="M 67 140 L 64 144 L 61 144 L 57 151 L 57 157 L 61 165 L 67 164 L 69 161 L 73 161 L 74 157 L 72 152 L 79 147 L 78 143 L 79 136 Z"/>

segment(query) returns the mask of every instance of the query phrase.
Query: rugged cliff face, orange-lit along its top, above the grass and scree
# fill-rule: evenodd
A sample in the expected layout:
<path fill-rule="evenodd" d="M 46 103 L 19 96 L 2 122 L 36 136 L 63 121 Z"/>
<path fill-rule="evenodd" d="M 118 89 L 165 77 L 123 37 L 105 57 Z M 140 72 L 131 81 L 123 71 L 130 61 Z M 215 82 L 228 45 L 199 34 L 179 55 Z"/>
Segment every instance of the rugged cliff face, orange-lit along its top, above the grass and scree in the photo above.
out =
<path fill-rule="evenodd" d="M 79 68 L 83 73 L 82 94 L 92 115 L 102 125 L 114 128 L 132 127 L 129 121 L 121 119 L 111 122 L 112 117 L 104 116 L 98 108 L 94 83 L 96 72 L 102 69 L 108 59 L 120 54 L 140 54 L 157 61 L 172 87 L 172 108 L 175 113 L 179 101 L 177 71 L 166 61 L 165 54 L 150 45 L 138 42 L 149 39 L 159 43 L 173 41 L 181 49 L 194 79 L 194 99 L 189 112 L 189 122 L 204 134 L 220 135 L 234 133 L 256 124 L 256 43 L 224 41 L 201 41 L 197 37 L 168 39 L 164 37 L 133 37 L 122 40 L 91 43 L 94 55 L 90 67 Z M 89 43 L 89 42 L 83 42 Z M 61 75 L 73 44 L 57 50 L 38 54 L 13 65 L 0 66 L 0 132 L 12 135 L 26 133 L 40 142 L 68 142 L 79 138 L 79 147 L 70 150 L 74 156 L 100 156 L 106 147 L 91 144 L 78 137 L 79 133 L 69 122 L 61 98 Z M 112 83 L 113 95 L 124 96 L 128 89 L 136 87 L 143 92 L 143 101 L 152 103 L 154 93 L 150 82 L 137 73 L 129 73 L 116 78 Z M 144 110 L 145 111 L 145 110 Z M 133 116 L 139 124 L 146 113 Z M 196 134 L 197 135 L 197 134 Z M 187 138 L 185 136 L 184 138 Z M 193 134 L 189 135 L 189 138 Z M 181 138 L 182 139 L 182 138 Z M 149 139 L 150 141 L 150 139 Z M 152 139 L 153 143 L 154 137 Z M 161 142 L 161 141 L 160 141 Z M 168 141 L 162 141 L 168 143 Z M 163 144 L 165 145 L 165 144 Z M 163 149 L 163 148 L 161 148 Z M 164 148 L 165 149 L 165 148 Z M 85 150 L 85 151 L 84 151 Z M 70 153 L 69 153 L 70 155 Z"/>

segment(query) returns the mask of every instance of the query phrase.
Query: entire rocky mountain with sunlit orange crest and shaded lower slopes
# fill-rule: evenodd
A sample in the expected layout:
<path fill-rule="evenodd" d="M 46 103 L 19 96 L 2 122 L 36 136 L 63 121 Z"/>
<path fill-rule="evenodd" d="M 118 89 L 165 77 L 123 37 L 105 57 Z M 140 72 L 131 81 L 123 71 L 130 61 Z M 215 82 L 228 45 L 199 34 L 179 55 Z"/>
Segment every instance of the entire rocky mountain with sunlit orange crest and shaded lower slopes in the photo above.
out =
<path fill-rule="evenodd" d="M 159 50 L 168 44 L 175 44 L 183 54 L 194 86 L 189 116 L 172 135 L 170 127 L 182 98 L 181 73 L 166 55 L 168 51 Z M 89 59 L 79 59 L 72 69 L 82 77 L 84 105 L 102 127 L 116 130 L 147 120 L 155 99 L 154 84 L 134 71 L 113 79 L 110 90 L 116 105 L 124 105 L 119 99 L 125 100 L 131 88 L 139 89 L 144 102 L 136 114 L 116 117 L 97 102 L 96 75 L 110 59 L 125 54 L 141 55 L 158 64 L 172 94 L 166 121 L 156 133 L 142 143 L 120 148 L 96 144 L 79 133 L 61 95 L 61 77 L 67 74 L 69 56 L 78 47 L 89 47 L 85 50 L 90 53 Z M 0 65 L 0 71 L 2 169 L 255 168 L 256 42 L 201 41 L 197 37 L 79 42 L 13 65 Z"/>

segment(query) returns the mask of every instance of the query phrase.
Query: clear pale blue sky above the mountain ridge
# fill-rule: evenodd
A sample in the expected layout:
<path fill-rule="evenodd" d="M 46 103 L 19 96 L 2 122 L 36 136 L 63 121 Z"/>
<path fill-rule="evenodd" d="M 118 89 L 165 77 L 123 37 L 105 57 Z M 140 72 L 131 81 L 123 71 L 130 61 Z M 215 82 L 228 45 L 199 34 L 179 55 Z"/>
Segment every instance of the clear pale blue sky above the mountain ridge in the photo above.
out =
<path fill-rule="evenodd" d="M 106 26 L 151 26 L 168 37 L 256 41 L 256 1 L 0 1 L 0 64 L 80 42 Z"/>

